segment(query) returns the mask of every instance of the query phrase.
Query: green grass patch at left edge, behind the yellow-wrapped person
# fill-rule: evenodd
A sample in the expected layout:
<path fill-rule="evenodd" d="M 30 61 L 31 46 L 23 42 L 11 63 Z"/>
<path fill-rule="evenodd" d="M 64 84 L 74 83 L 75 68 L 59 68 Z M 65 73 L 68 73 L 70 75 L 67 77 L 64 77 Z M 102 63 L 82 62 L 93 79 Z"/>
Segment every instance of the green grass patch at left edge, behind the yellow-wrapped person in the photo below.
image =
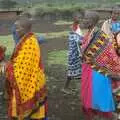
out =
<path fill-rule="evenodd" d="M 12 35 L 0 36 L 0 45 L 4 45 L 7 48 L 6 56 L 9 57 L 14 49 Z"/>

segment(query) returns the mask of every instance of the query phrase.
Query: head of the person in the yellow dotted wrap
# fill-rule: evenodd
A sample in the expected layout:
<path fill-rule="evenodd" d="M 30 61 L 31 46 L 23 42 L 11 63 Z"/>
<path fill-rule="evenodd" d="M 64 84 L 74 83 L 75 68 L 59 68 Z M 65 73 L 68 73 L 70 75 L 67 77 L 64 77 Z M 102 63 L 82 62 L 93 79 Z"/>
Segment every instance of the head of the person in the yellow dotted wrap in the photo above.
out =
<path fill-rule="evenodd" d="M 32 22 L 28 18 L 21 18 L 15 22 L 16 33 L 19 38 L 23 37 L 26 33 L 31 31 Z"/>

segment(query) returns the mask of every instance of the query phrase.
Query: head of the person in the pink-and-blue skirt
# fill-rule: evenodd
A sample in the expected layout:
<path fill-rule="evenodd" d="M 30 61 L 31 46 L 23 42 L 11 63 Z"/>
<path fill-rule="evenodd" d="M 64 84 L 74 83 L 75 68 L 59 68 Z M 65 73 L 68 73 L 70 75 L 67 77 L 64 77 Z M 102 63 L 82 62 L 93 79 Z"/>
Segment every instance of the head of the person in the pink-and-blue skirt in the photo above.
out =
<path fill-rule="evenodd" d="M 97 12 L 88 11 L 85 12 L 83 26 L 86 29 L 92 29 L 99 21 L 99 15 Z"/>

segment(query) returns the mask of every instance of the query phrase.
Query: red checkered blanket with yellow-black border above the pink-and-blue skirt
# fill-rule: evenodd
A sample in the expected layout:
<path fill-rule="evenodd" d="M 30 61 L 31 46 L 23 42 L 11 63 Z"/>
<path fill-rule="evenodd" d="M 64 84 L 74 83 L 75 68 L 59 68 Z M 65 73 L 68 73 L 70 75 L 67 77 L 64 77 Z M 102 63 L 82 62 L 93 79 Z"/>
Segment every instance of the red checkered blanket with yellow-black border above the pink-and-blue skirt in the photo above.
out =
<path fill-rule="evenodd" d="M 100 73 L 105 75 L 120 74 L 120 59 L 118 59 L 114 45 L 102 31 L 97 31 L 94 34 L 84 50 L 83 59 Z"/>

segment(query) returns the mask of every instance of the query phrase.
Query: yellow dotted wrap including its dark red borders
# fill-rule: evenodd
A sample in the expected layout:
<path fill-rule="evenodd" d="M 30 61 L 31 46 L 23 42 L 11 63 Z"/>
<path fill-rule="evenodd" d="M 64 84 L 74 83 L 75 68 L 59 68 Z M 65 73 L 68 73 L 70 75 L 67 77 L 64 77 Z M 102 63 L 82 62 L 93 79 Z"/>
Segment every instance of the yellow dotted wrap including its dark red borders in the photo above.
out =
<path fill-rule="evenodd" d="M 45 105 L 39 106 L 39 104 L 43 103 L 46 98 L 46 80 L 41 68 L 40 46 L 34 34 L 23 37 L 16 47 L 11 61 L 14 73 L 11 116 L 22 120 L 36 106 L 38 110 L 31 115 L 31 118 L 44 118 Z"/>

